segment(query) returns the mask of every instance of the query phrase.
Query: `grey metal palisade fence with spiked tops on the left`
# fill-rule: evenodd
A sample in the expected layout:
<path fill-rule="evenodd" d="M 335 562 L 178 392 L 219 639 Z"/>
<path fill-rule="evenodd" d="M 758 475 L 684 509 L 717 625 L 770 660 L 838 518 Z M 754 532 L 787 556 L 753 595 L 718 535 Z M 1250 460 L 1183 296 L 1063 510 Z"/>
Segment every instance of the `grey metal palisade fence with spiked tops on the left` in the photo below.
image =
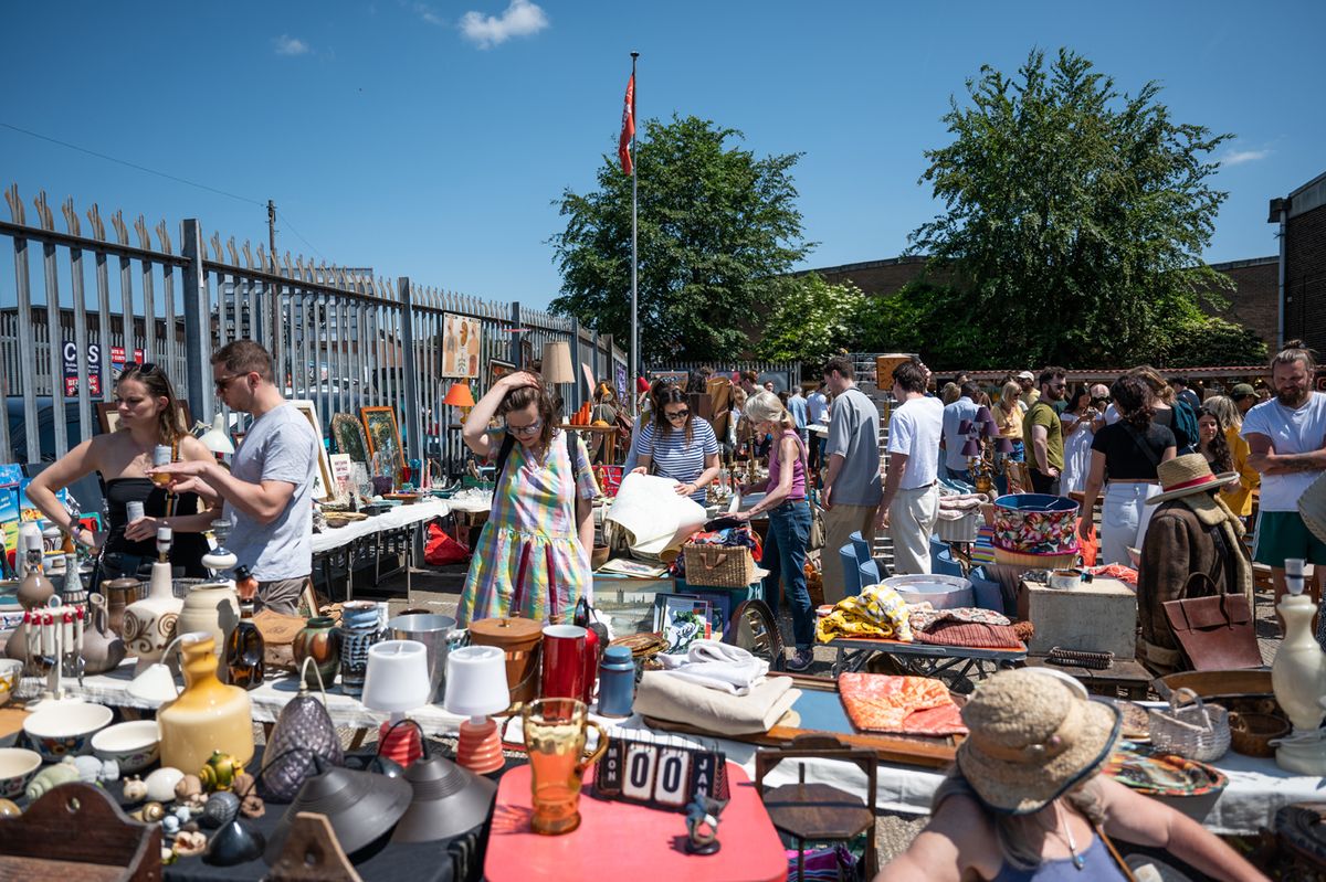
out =
<path fill-rule="evenodd" d="M 446 331 L 456 318 L 479 323 L 477 367 L 464 371 L 473 375 L 476 399 L 487 389 L 491 362 L 528 366 L 550 340 L 570 342 L 573 362 L 595 377 L 625 376 L 626 355 L 610 336 L 518 302 L 314 265 L 289 253 L 273 260 L 261 245 L 206 234 L 198 220 L 180 224 L 178 252 L 166 222 L 150 232 L 142 216 L 133 221 L 135 241 L 121 212 L 109 217 L 107 237 L 97 205 L 85 215 L 85 234 L 72 199 L 61 207 L 60 232 L 45 193 L 32 203 L 32 225 L 17 187 L 5 201 L 0 462 L 49 461 L 95 434 L 98 409 L 105 409 L 98 404 L 114 400 L 114 377 L 126 362 L 162 366 L 194 420 L 211 421 L 217 407 L 211 354 L 240 338 L 273 352 L 286 397 L 314 401 L 324 430 L 334 413 L 358 417 L 359 408 L 391 407 L 407 454 L 440 458 L 448 467 L 463 457 L 460 413 L 443 404 L 451 384 L 463 380 L 444 368 Z M 577 407 L 586 384 L 566 384 L 561 393 Z"/>

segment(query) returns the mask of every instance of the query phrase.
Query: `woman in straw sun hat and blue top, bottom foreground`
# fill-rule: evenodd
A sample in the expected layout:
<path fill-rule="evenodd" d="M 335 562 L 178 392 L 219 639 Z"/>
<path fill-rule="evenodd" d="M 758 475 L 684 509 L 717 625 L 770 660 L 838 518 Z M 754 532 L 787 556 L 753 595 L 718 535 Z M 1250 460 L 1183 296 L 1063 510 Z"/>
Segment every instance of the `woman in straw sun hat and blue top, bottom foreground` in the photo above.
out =
<path fill-rule="evenodd" d="M 1022 667 L 976 689 L 930 822 L 875 882 L 1130 878 L 1107 837 L 1216 879 L 1265 879 L 1192 818 L 1102 776 L 1119 710 L 1054 674 Z"/>

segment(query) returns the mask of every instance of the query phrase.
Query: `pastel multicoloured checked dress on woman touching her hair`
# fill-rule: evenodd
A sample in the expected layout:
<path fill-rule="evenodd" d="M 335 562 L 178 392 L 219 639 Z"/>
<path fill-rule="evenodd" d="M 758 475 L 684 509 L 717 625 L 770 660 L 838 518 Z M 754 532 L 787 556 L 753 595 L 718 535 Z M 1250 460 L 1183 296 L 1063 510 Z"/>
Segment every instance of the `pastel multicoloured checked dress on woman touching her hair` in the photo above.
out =
<path fill-rule="evenodd" d="M 561 432 L 545 456 L 540 462 L 520 444 L 511 450 L 460 593 L 461 628 L 479 618 L 570 613 L 593 588 L 589 551 L 575 532 L 575 498 L 598 494 L 589 453 L 577 440 L 578 481 Z"/>

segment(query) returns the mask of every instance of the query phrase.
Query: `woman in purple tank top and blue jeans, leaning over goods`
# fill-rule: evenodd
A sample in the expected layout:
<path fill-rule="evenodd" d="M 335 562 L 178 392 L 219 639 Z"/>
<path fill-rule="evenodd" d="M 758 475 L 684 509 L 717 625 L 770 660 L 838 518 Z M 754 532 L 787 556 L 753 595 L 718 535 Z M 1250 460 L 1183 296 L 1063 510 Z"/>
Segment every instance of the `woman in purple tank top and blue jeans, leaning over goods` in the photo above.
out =
<path fill-rule="evenodd" d="M 769 513 L 769 535 L 760 563 L 769 571 L 764 580 L 764 597 L 770 607 L 778 603 L 778 580 L 786 584 L 788 607 L 792 609 L 792 636 L 796 652 L 788 670 L 805 670 L 814 660 L 815 611 L 806 589 L 806 543 L 810 542 L 810 506 L 806 502 L 806 450 L 797 434 L 797 424 L 773 392 L 751 396 L 745 416 L 756 433 L 777 438 L 769 449 L 769 482 L 764 487 L 744 487 L 747 493 L 764 490 L 765 497 L 740 518 Z"/>

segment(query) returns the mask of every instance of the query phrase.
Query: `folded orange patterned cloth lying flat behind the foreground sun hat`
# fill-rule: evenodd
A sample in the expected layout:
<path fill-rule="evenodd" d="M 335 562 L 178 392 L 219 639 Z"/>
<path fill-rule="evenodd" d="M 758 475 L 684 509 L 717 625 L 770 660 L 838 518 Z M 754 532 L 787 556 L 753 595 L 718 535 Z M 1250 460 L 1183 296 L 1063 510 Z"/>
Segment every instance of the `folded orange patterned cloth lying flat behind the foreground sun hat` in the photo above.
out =
<path fill-rule="evenodd" d="M 957 705 L 944 683 L 930 677 L 842 674 L 838 694 L 861 732 L 902 735 L 965 734 Z"/>

